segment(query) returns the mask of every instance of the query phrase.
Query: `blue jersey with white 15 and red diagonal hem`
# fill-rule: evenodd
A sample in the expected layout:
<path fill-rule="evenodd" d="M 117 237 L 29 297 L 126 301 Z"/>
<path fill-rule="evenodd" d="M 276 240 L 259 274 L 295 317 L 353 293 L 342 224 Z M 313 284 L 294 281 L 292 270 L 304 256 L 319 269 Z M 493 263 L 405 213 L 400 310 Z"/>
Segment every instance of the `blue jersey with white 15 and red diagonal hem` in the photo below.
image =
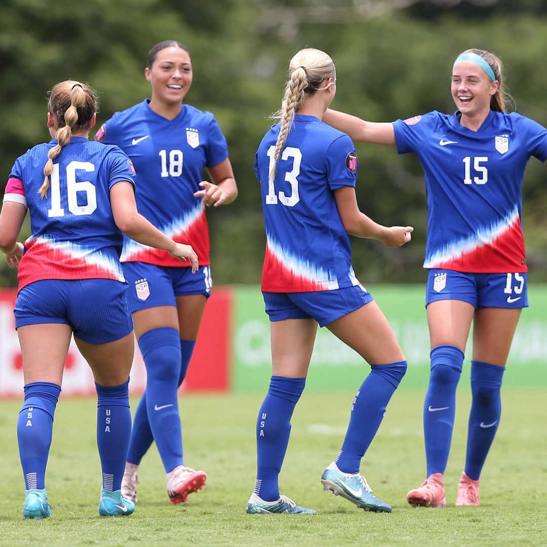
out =
<path fill-rule="evenodd" d="M 415 152 L 426 176 L 424 268 L 525 272 L 522 178 L 547 159 L 547 130 L 516 113 L 490 112 L 479 131 L 430 112 L 393 122 L 399 154 Z"/>

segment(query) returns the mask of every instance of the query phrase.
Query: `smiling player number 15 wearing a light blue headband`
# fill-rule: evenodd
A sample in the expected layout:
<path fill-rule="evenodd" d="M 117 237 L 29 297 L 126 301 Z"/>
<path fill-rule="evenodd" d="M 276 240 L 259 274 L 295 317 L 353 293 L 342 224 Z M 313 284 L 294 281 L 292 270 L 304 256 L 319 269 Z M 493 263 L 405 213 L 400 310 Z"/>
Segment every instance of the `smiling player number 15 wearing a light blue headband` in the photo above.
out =
<path fill-rule="evenodd" d="M 452 68 L 452 115 L 429 112 L 370 123 L 330 111 L 325 121 L 354 139 L 415 152 L 426 176 L 429 270 L 426 306 L 431 371 L 423 409 L 427 478 L 412 505 L 445 507 L 456 386 L 473 322 L 473 403 L 456 505 L 479 505 L 479 478 L 501 415 L 511 341 L 528 306 L 521 185 L 530 156 L 547 158 L 547 130 L 505 112 L 502 63 L 469 49 Z"/>

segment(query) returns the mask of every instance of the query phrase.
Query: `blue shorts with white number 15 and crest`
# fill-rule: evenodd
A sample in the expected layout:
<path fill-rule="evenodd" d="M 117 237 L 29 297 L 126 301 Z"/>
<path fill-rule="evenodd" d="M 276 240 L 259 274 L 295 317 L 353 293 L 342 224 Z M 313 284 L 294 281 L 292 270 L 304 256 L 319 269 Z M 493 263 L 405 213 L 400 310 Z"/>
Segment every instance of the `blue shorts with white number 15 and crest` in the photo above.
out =
<path fill-rule="evenodd" d="M 528 307 L 526 274 L 464 274 L 453 270 L 429 270 L 426 306 L 437 300 L 463 300 L 475 309 Z"/>

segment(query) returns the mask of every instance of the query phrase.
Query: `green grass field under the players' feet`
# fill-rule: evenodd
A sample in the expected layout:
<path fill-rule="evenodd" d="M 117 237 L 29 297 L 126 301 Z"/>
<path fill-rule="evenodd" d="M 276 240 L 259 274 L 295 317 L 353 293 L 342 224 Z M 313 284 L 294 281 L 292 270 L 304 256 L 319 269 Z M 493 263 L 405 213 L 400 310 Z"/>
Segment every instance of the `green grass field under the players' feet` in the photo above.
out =
<path fill-rule="evenodd" d="M 365 513 L 323 491 L 319 477 L 340 449 L 353 393 L 304 393 L 280 484 L 282 493 L 317 510 L 309 516 L 245 513 L 261 395 L 184 395 L 185 463 L 208 474 L 205 488 L 187 504 L 168 501 L 153 447 L 139 469 L 135 514 L 100 517 L 95 400 L 61 399 L 46 477 L 53 517 L 25 521 L 15 433 L 20 401 L 0 401 L 0 545 L 546 545 L 546 390 L 502 393 L 501 426 L 483 470 L 479 508 L 453 506 L 470 402 L 469 392 L 459 391 L 446 509 L 412 509 L 405 501 L 425 472 L 423 391 L 395 393 L 361 468 L 375 494 L 393 505 L 391 514 Z"/>

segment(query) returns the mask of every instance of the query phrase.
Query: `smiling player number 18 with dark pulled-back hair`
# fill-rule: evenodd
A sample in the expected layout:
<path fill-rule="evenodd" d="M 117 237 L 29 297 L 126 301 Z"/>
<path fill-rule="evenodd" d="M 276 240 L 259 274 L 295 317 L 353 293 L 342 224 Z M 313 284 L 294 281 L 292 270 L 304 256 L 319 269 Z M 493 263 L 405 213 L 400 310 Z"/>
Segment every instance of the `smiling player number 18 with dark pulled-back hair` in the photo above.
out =
<path fill-rule="evenodd" d="M 174 240 L 191 240 L 200 267 L 191 276 L 167 253 L 124 240 L 121 261 L 147 387 L 133 422 L 122 492 L 137 501 L 137 468 L 155 441 L 168 496 L 177 504 L 206 480 L 203 471 L 184 465 L 177 401 L 213 283 L 204 206 L 234 201 L 237 187 L 213 115 L 182 104 L 193 77 L 188 49 L 173 40 L 155 45 L 144 75 L 152 99 L 115 113 L 95 139 L 129 155 L 137 171 L 138 210 Z M 202 180 L 205 168 L 212 183 Z"/>

